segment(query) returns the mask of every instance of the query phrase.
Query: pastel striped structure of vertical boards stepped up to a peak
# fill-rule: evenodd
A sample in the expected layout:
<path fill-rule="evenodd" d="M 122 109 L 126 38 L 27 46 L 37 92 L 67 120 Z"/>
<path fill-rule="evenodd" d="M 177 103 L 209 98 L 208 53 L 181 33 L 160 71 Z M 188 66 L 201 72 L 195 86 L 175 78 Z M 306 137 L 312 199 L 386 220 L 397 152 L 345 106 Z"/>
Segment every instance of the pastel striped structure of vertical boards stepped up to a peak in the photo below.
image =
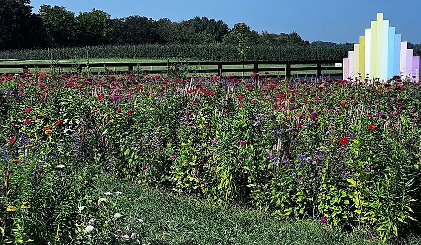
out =
<path fill-rule="evenodd" d="M 386 81 L 393 76 L 415 77 L 420 80 L 420 57 L 414 57 L 414 51 L 408 49 L 408 42 L 396 34 L 396 28 L 390 27 L 389 20 L 383 19 L 383 13 L 371 21 L 371 28 L 365 29 L 365 36 L 354 44 L 354 51 L 348 52 L 343 62 L 343 79 L 379 78 Z"/>

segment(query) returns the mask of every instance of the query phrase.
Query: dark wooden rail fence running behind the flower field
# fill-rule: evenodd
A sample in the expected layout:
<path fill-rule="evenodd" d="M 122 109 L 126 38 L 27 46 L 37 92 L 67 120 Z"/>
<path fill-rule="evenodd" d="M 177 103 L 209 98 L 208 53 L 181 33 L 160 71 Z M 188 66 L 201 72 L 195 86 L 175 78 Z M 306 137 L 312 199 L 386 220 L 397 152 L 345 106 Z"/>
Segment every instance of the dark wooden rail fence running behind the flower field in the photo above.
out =
<path fill-rule="evenodd" d="M 74 63 L 74 64 L 1 64 L 0 69 L 49 69 L 49 68 L 73 68 L 82 72 L 83 68 L 110 68 L 127 67 L 126 72 L 133 73 L 135 68 L 150 67 L 149 74 L 159 74 L 162 70 L 168 70 L 175 62 L 132 62 L 132 63 Z M 194 73 L 213 73 L 224 76 L 224 73 L 259 73 L 259 72 L 284 72 L 283 77 L 292 77 L 292 72 L 315 71 L 313 74 L 301 74 L 300 76 L 321 77 L 323 74 L 331 77 L 342 77 L 342 60 L 321 60 L 321 61 L 204 61 L 204 62 L 181 62 L 187 66 L 200 66 L 200 69 L 192 69 Z M 333 66 L 332 66 L 333 64 Z M 337 66 L 337 64 L 340 64 Z M 260 67 L 261 65 L 272 65 L 273 67 Z M 276 67 L 279 65 L 280 67 Z M 306 67 L 293 67 L 294 65 L 314 65 Z M 201 66 L 216 66 L 216 69 L 201 69 Z M 242 68 L 224 68 L 224 66 L 243 66 Z M 249 68 L 244 68 L 248 66 Z M 250 66 L 253 66 L 250 68 Z M 284 66 L 284 67 L 281 67 Z M 164 67 L 166 69 L 153 69 L 153 67 Z M 327 72 L 329 71 L 329 72 Z M 332 72 L 333 71 L 333 72 Z M 324 73 L 323 73 L 324 72 Z M 15 73 L 9 73 L 15 74 Z M 248 74 L 249 75 L 249 74 Z"/>

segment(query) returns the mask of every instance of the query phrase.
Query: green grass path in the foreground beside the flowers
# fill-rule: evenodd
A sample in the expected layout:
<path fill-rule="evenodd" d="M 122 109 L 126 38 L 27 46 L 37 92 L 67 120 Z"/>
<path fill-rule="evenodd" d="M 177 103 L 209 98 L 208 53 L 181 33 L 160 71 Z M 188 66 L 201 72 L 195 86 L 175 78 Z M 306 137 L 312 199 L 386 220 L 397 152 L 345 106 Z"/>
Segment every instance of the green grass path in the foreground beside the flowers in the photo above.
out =
<path fill-rule="evenodd" d="M 96 189 L 95 189 L 96 188 Z M 318 221 L 276 221 L 258 211 L 162 194 L 100 175 L 92 198 L 109 196 L 115 212 L 133 224 L 140 244 L 159 245 L 374 245 L 368 234 L 332 230 Z M 113 199 L 114 198 L 114 199 Z M 117 198 L 117 199 L 116 199 Z M 136 222 L 142 220 L 142 223 Z M 135 242 L 135 241 L 132 241 Z M 412 240 L 408 244 L 418 244 Z"/>

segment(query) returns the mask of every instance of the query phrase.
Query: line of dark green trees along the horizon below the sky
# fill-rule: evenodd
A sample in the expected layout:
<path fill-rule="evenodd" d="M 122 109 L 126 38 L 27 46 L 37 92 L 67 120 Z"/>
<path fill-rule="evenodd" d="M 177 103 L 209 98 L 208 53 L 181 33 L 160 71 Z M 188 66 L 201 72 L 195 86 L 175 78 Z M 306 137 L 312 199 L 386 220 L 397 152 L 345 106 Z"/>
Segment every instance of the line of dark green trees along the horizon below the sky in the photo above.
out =
<path fill-rule="evenodd" d="M 245 52 L 251 46 L 328 46 L 352 50 L 352 43 L 336 44 L 303 40 L 297 32 L 259 33 L 246 23 L 230 28 L 224 21 L 207 17 L 171 21 L 134 15 L 111 18 L 92 9 L 76 15 L 64 6 L 41 5 L 32 13 L 30 0 L 0 1 L 0 50 L 65 48 L 142 44 L 225 44 Z M 419 54 L 420 45 L 409 44 Z"/>

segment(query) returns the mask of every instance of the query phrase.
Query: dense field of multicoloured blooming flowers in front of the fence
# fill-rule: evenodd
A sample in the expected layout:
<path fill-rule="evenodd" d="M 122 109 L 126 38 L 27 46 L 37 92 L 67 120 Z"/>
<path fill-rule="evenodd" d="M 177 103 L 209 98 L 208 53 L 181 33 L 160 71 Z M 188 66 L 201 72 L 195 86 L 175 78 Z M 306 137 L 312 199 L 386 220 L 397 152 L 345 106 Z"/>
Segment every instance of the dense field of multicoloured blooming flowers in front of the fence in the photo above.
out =
<path fill-rule="evenodd" d="M 118 227 L 116 214 L 83 215 L 103 212 L 107 196 L 84 194 L 101 170 L 400 241 L 421 225 L 420 89 L 399 77 L 3 75 L 1 236 L 83 244 Z"/>

